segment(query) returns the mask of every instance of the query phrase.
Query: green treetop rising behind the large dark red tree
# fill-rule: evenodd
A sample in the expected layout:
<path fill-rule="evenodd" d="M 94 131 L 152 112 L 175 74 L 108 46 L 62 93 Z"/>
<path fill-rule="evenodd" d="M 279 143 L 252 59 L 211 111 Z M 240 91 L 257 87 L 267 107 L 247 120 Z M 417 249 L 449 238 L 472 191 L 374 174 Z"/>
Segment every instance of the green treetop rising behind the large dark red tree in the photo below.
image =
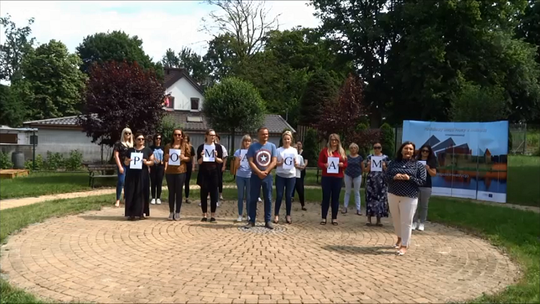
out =
<path fill-rule="evenodd" d="M 123 31 L 96 33 L 86 36 L 77 46 L 77 54 L 82 59 L 81 71 L 88 74 L 95 63 L 109 61 L 137 62 L 144 69 L 153 69 L 158 79 L 163 78 L 163 66 L 156 64 L 144 52 L 143 41 L 137 36 L 129 36 Z"/>

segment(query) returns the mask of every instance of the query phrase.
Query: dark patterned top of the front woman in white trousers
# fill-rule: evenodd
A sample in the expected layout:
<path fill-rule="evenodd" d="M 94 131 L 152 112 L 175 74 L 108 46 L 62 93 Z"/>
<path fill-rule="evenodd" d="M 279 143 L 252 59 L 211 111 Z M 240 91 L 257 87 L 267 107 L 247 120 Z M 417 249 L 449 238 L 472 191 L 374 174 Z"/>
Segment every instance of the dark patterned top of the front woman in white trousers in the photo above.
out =
<path fill-rule="evenodd" d="M 397 174 L 407 174 L 410 179 L 394 180 Z M 385 180 L 388 183 L 388 193 L 417 198 L 418 188 L 424 187 L 426 183 L 426 168 L 415 159 L 391 161 L 385 173 Z"/>

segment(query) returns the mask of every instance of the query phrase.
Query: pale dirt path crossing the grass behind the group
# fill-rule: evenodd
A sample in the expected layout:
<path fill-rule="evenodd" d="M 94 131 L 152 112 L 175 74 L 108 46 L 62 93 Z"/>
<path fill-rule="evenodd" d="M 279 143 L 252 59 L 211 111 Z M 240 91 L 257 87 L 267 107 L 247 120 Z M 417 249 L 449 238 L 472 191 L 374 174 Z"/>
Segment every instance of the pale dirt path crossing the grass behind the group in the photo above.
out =
<path fill-rule="evenodd" d="M 223 186 L 229 189 L 236 187 L 236 185 L 234 184 L 227 184 Z M 191 187 L 192 189 L 199 188 L 199 186 L 197 185 L 191 185 Z M 305 186 L 305 188 L 306 189 L 319 189 L 320 187 L 319 186 Z M 163 189 L 165 190 L 167 188 L 163 187 Z M 116 189 L 107 188 L 107 189 L 98 189 L 98 190 L 91 190 L 91 191 L 42 195 L 38 197 L 23 197 L 23 198 L 7 199 L 7 200 L 2 200 L 0 202 L 0 210 L 17 208 L 21 206 L 27 206 L 27 205 L 37 204 L 37 203 L 43 203 L 46 201 L 59 200 L 59 199 L 71 199 L 71 198 L 97 196 L 97 195 L 104 195 L 104 194 L 114 194 L 115 192 L 116 192 Z M 483 202 L 483 201 L 471 201 L 471 202 L 474 202 L 477 204 L 483 204 L 483 205 L 502 206 L 502 207 L 507 207 L 507 208 L 512 208 L 512 209 L 519 209 L 519 210 L 524 210 L 524 211 L 532 211 L 532 212 L 540 213 L 540 207 L 536 207 L 536 206 L 522 206 L 522 205 L 514 205 L 514 204 Z"/>

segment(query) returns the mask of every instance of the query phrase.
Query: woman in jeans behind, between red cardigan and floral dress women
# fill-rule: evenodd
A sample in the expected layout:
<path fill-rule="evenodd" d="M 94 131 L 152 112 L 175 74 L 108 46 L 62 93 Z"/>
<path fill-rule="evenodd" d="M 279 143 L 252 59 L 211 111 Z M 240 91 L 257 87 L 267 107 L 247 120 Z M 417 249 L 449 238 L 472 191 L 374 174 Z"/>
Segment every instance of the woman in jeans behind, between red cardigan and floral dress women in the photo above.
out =
<path fill-rule="evenodd" d="M 349 145 L 350 155 L 347 155 L 347 169 L 345 169 L 345 199 L 343 202 L 343 213 L 347 213 L 349 199 L 351 197 L 351 188 L 354 188 L 354 202 L 356 203 L 356 214 L 362 215 L 360 200 L 360 185 L 362 184 L 362 171 L 364 171 L 363 159 L 358 154 L 358 145 L 352 143 Z"/>

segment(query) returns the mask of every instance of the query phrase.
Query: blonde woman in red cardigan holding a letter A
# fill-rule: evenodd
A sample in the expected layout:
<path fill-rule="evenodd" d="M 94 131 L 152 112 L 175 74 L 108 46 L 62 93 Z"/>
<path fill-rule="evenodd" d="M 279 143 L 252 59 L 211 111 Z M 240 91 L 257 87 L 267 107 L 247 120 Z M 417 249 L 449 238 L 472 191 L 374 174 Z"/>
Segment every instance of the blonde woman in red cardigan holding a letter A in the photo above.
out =
<path fill-rule="evenodd" d="M 347 155 L 341 146 L 339 135 L 330 134 L 328 144 L 319 153 L 318 165 L 322 169 L 321 188 L 323 200 L 321 204 L 321 225 L 326 225 L 330 200 L 332 201 L 332 225 L 337 225 L 339 193 L 343 184 L 343 172 L 347 168 Z"/>

